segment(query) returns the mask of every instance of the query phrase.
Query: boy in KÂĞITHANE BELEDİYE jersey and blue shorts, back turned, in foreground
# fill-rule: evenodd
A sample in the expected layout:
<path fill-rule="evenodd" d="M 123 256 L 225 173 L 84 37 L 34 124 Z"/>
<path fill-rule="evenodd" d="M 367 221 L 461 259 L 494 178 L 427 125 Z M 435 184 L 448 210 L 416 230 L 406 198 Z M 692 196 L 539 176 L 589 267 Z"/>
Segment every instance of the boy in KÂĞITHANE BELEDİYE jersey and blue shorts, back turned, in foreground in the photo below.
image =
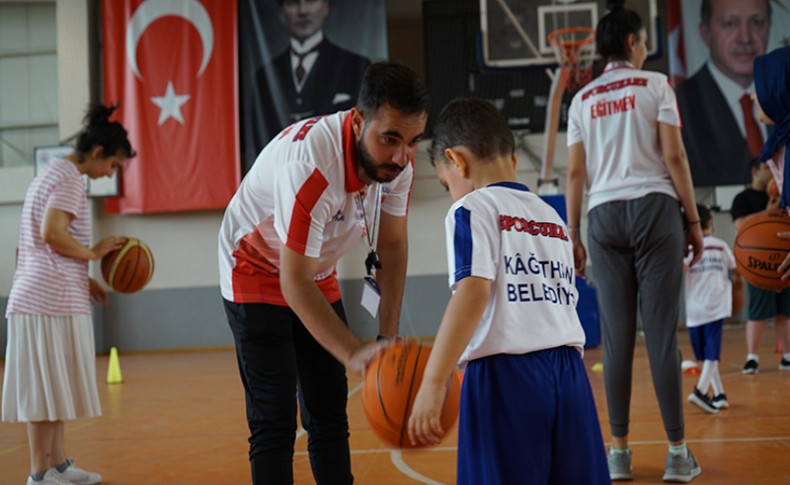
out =
<path fill-rule="evenodd" d="M 453 296 L 409 418 L 411 441 L 444 434 L 439 416 L 458 362 L 467 367 L 457 483 L 610 483 L 565 224 L 517 181 L 513 135 L 490 103 L 447 105 L 430 155 L 456 200 L 445 219 Z"/>

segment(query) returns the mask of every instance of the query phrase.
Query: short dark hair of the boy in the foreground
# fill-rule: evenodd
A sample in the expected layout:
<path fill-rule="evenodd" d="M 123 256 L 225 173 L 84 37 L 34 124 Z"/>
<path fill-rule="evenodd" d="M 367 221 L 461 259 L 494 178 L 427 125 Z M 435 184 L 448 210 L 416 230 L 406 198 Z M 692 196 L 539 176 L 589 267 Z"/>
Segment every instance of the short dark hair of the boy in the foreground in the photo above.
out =
<path fill-rule="evenodd" d="M 464 146 L 481 160 L 511 156 L 516 147 L 513 132 L 502 113 L 481 98 L 456 98 L 444 107 L 433 127 L 428 148 L 431 165 L 444 161 L 447 148 Z M 444 163 L 444 162 L 443 162 Z"/>

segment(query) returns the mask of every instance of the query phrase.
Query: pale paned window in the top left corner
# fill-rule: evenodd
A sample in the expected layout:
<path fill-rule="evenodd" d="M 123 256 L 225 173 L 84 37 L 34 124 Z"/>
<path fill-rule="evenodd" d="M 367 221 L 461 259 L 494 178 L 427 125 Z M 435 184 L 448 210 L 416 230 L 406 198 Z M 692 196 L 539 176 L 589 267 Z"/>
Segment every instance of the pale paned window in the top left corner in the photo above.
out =
<path fill-rule="evenodd" d="M 58 143 L 55 2 L 0 1 L 0 169 Z"/>

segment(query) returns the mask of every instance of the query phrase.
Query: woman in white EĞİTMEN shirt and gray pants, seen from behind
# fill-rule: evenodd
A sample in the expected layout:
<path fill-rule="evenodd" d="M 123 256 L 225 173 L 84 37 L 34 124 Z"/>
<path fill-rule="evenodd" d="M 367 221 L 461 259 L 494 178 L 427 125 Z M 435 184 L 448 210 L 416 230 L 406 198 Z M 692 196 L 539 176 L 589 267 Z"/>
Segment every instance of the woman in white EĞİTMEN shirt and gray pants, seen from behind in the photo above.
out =
<path fill-rule="evenodd" d="M 677 324 L 683 256 L 695 264 L 702 230 L 667 76 L 643 71 L 647 34 L 639 15 L 610 2 L 596 27 L 604 72 L 573 98 L 568 121 L 568 224 L 576 271 L 587 250 L 580 221 L 586 187 L 588 245 L 604 347 L 612 480 L 631 480 L 629 415 L 637 312 L 669 441 L 665 481 L 689 482 L 701 469 L 685 443 Z M 685 221 L 684 221 L 685 215 Z"/>

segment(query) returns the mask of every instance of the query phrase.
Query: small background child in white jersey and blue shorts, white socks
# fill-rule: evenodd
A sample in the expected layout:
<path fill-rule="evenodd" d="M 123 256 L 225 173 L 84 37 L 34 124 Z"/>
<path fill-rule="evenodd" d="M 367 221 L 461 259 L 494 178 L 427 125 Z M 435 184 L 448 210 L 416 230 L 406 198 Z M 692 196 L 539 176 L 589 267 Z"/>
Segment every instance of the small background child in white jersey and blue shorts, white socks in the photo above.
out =
<path fill-rule="evenodd" d="M 710 209 L 697 204 L 697 211 L 704 236 L 702 258 L 689 267 L 691 257 L 687 256 L 683 260 L 683 269 L 686 275 L 686 326 L 694 358 L 702 361 L 702 372 L 688 401 L 707 413 L 716 414 L 719 409 L 729 407 L 719 374 L 721 330 L 724 319 L 732 315 L 732 288 L 743 283 L 734 271 L 732 250 L 726 242 L 713 236 Z M 733 281 L 730 281 L 731 271 Z M 708 397 L 708 387 L 713 388 L 712 398 Z"/>

